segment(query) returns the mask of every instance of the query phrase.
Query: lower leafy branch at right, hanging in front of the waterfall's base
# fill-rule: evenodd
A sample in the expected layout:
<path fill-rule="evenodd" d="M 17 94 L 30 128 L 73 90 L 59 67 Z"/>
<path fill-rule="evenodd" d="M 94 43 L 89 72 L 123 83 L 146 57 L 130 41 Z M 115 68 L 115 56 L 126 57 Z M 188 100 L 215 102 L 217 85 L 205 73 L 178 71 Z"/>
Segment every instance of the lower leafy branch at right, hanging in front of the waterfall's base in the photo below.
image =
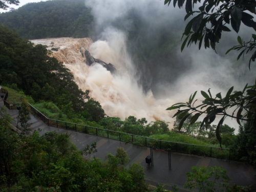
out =
<path fill-rule="evenodd" d="M 191 115 L 193 115 L 189 122 L 193 124 L 201 115 L 205 115 L 200 127 L 204 124 L 207 126 L 211 124 L 216 116 L 221 115 L 221 119 L 216 127 L 216 137 L 221 143 L 221 125 L 226 117 L 236 118 L 237 122 L 241 125 L 241 121 L 247 121 L 248 126 L 251 129 L 255 129 L 256 126 L 256 82 L 253 86 L 245 86 L 242 91 L 233 92 L 231 87 L 226 95 L 223 97 L 221 93 L 212 97 L 210 90 L 208 93 L 201 91 L 202 96 L 205 98 L 202 104 L 196 105 L 197 92 L 190 95 L 188 102 L 176 103 L 167 110 L 179 109 L 174 115 L 179 116 L 181 119 L 179 129 L 181 129 L 184 121 Z M 228 113 L 227 111 L 232 111 Z"/>

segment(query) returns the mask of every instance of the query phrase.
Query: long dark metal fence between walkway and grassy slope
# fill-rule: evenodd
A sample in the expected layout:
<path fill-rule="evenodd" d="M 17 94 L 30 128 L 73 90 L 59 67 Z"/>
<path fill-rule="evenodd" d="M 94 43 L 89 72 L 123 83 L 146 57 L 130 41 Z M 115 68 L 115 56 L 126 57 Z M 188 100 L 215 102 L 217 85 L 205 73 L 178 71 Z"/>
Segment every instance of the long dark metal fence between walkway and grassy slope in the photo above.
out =
<path fill-rule="evenodd" d="M 220 147 L 212 147 L 212 146 L 204 146 L 204 145 L 196 145 L 196 144 L 188 144 L 181 142 L 172 142 L 172 141 L 164 141 L 159 139 L 153 139 L 144 136 L 138 136 L 123 132 L 117 132 L 113 130 L 101 129 L 98 127 L 60 121 L 57 119 L 50 119 L 41 112 L 39 112 L 34 106 L 31 106 L 31 109 L 34 114 L 36 114 L 42 121 L 47 123 L 49 126 L 76 131 L 80 133 L 100 136 L 108 139 L 119 140 L 126 143 L 133 143 L 140 146 L 152 146 L 157 150 L 162 151 L 171 151 L 178 152 L 184 154 L 191 155 L 199 155 L 199 156 L 207 156 L 214 157 L 220 159 L 231 160 L 235 157 L 231 156 L 231 151 L 229 148 L 220 148 Z"/>

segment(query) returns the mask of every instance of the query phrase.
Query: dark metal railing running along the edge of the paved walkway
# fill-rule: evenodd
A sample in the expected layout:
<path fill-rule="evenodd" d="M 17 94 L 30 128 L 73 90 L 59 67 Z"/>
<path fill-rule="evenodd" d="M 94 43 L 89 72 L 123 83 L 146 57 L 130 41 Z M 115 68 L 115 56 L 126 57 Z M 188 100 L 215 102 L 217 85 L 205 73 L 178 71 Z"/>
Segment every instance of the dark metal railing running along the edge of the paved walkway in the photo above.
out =
<path fill-rule="evenodd" d="M 200 156 L 209 156 L 209 157 L 216 157 L 216 158 L 222 158 L 222 159 L 229 159 L 231 158 L 231 154 L 230 154 L 230 149 L 229 148 L 221 148 L 221 147 L 214 147 L 214 146 L 205 146 L 205 145 L 198 145 L 198 144 L 190 144 L 190 143 L 182 143 L 182 142 L 174 142 L 174 141 L 165 141 L 165 140 L 159 140 L 159 139 L 154 139 L 154 138 L 150 138 L 150 137 L 145 137 L 145 136 L 140 136 L 140 135 L 134 135 L 134 134 L 129 134 L 129 133 L 123 133 L 123 132 L 118 132 L 118 131 L 113 131 L 113 130 L 108 130 L 108 129 L 102 129 L 102 128 L 99 128 L 99 127 L 94 127 L 94 126 L 89 126 L 89 125 L 84 125 L 84 124 L 79 124 L 79 123 L 73 123 L 73 122 L 67 122 L 67 121 L 62 121 L 62 120 L 57 120 L 57 119 L 50 119 L 48 118 L 46 115 L 42 114 L 40 111 L 38 111 L 32 104 L 29 103 L 29 105 L 31 106 L 31 108 L 33 110 L 36 111 L 36 113 L 40 114 L 42 117 L 44 117 L 44 120 L 47 120 L 48 122 L 48 125 L 50 126 L 56 126 L 58 128 L 63 128 L 61 127 L 59 123 L 65 123 L 65 127 L 66 129 L 69 129 L 69 130 L 73 130 L 73 131 L 76 131 L 76 132 L 79 132 L 77 131 L 77 126 L 82 126 L 86 129 L 86 131 L 82 131 L 82 133 L 87 133 L 87 134 L 92 134 L 92 135 L 97 135 L 97 136 L 101 136 L 101 137 L 105 137 L 105 138 L 109 138 L 109 139 L 116 139 L 116 137 L 118 137 L 120 141 L 124 141 L 125 139 L 125 142 L 130 142 L 130 143 L 134 143 L 134 144 L 140 144 L 140 145 L 143 145 L 143 146 L 150 146 L 148 145 L 148 143 L 153 143 L 153 145 L 155 144 L 155 148 L 159 148 L 160 150 L 165 150 L 165 151 L 175 151 L 175 152 L 179 152 L 179 153 L 189 153 L 189 154 L 194 154 L 194 155 L 200 155 Z M 56 123 L 56 124 L 52 124 L 52 122 Z M 74 125 L 74 129 L 71 129 L 70 127 L 68 127 L 67 125 Z M 91 129 L 94 129 L 96 133 L 90 133 L 88 131 L 88 129 L 91 128 Z M 63 128 L 65 129 L 65 128 Z M 104 131 L 106 132 L 107 135 L 100 135 L 98 132 L 99 131 Z M 112 135 L 112 138 L 111 138 L 111 135 L 109 134 L 118 134 L 118 136 L 116 135 Z M 121 136 L 126 136 L 126 137 L 130 137 L 129 141 L 127 141 L 127 138 L 125 139 L 122 139 Z M 115 138 L 113 138 L 115 137 Z M 137 143 L 136 140 L 137 138 L 140 138 L 140 139 L 144 139 L 142 142 L 141 140 L 137 140 Z M 132 140 L 132 141 L 131 141 Z M 156 143 L 154 143 L 156 142 Z M 159 146 L 156 146 L 156 144 L 159 143 L 160 144 L 160 147 Z M 174 144 L 174 146 L 170 146 L 170 144 Z M 162 146 L 161 146 L 162 145 Z M 165 147 L 165 146 L 167 147 Z M 188 147 L 188 149 L 185 149 L 184 150 L 184 147 L 186 148 L 186 146 Z M 175 148 L 174 149 L 172 149 Z M 199 147 L 199 149 L 195 149 L 195 147 Z M 208 151 L 209 150 L 209 151 Z M 220 153 L 220 154 L 216 154 L 216 153 Z"/>

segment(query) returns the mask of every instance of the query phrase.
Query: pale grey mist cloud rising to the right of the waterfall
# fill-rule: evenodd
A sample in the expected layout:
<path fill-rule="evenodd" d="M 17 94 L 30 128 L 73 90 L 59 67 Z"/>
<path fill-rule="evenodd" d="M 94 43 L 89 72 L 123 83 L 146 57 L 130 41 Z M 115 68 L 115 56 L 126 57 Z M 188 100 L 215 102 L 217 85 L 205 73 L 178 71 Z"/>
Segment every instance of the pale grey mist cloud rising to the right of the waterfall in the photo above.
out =
<path fill-rule="evenodd" d="M 112 44 L 110 47 L 115 49 L 118 55 L 118 59 L 112 61 L 114 65 L 120 67 L 122 66 L 120 63 L 124 62 L 126 63 L 124 66 L 129 66 L 127 74 L 144 87 L 145 98 L 147 93 L 152 91 L 154 98 L 163 100 L 171 98 L 165 100 L 166 108 L 175 102 L 186 101 L 195 91 L 207 91 L 211 88 L 215 94 L 225 93 L 231 86 L 239 90 L 247 82 L 252 83 L 255 78 L 256 67 L 249 71 L 248 60 L 236 61 L 237 52 L 225 55 L 227 49 L 237 44 L 238 34 L 234 32 L 223 33 L 221 43 L 217 45 L 218 54 L 211 49 L 202 48 L 199 51 L 198 45 L 192 45 L 181 53 L 180 39 L 186 24 L 184 9 L 168 7 L 163 1 L 154 0 L 87 0 L 86 6 L 91 7 L 96 19 L 98 37 Z M 140 26 L 137 28 L 140 30 L 137 31 L 140 35 L 137 39 L 130 36 L 132 40 L 128 38 L 128 35 L 131 35 L 129 30 L 134 24 L 131 15 L 133 19 L 140 21 Z M 242 26 L 239 34 L 250 36 L 250 33 L 251 31 Z M 173 42 L 170 46 L 174 47 L 166 45 L 166 50 L 170 51 L 162 54 L 164 50 L 159 51 L 158 46 L 163 45 L 165 39 Z M 154 54 L 155 51 L 156 55 L 160 54 L 166 58 L 156 56 L 154 60 L 147 60 L 149 55 L 141 51 L 146 49 L 143 44 L 153 49 L 147 53 Z M 136 55 L 136 51 L 141 51 L 141 54 Z M 104 60 L 103 57 L 101 59 Z"/>

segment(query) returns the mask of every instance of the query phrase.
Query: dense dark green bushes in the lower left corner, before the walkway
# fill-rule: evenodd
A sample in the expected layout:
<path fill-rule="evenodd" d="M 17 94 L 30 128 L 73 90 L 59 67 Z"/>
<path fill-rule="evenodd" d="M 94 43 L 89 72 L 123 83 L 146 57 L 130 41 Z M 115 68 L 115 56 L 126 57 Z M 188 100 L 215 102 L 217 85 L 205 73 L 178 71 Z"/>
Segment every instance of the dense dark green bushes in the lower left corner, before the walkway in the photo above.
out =
<path fill-rule="evenodd" d="M 143 168 L 119 149 L 105 161 L 84 159 L 67 134 L 18 135 L 0 118 L 0 191 L 147 191 Z"/>

